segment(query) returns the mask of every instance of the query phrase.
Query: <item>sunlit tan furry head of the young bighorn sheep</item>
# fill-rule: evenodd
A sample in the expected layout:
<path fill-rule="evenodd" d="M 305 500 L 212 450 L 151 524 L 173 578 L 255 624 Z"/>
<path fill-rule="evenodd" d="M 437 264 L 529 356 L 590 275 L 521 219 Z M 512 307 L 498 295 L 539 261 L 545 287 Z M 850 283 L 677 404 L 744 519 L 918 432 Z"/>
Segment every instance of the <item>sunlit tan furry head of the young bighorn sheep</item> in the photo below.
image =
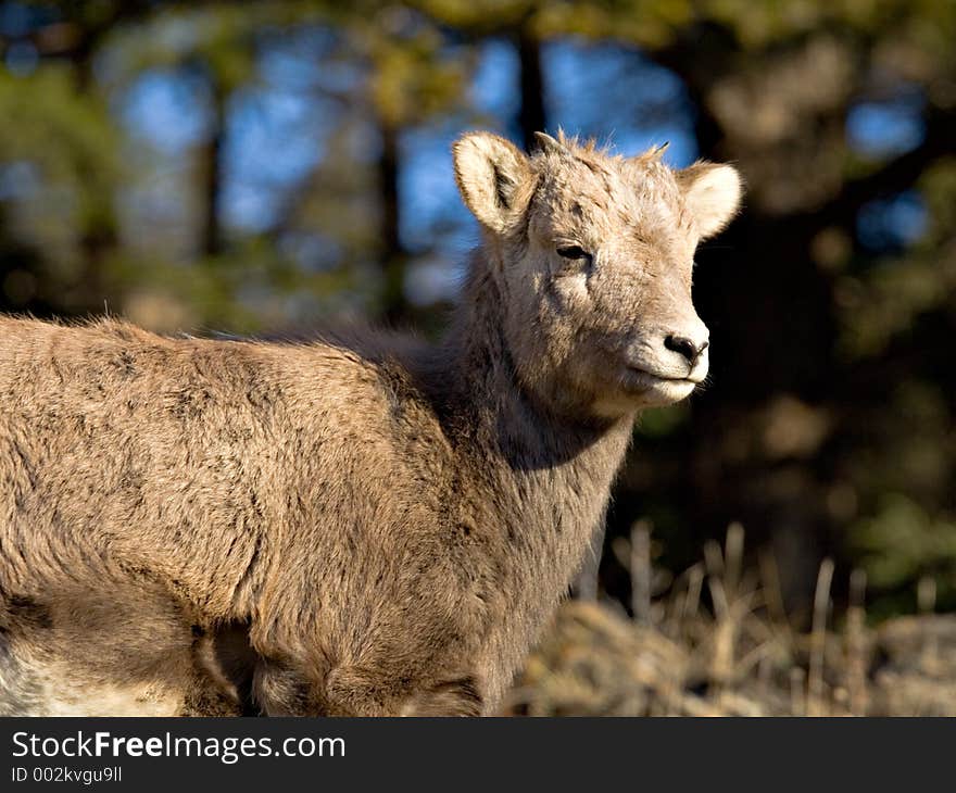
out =
<path fill-rule="evenodd" d="M 458 147 L 508 150 L 477 137 Z M 626 415 L 687 396 L 707 374 L 707 351 L 689 365 L 664 339 L 707 338 L 691 301 L 693 254 L 702 229 L 714 234 L 733 215 L 737 173 L 705 163 L 674 172 L 657 151 L 625 159 L 544 140 L 530 161 L 500 156 L 498 177 L 517 187 L 495 223 L 486 221 L 496 231 L 505 332 L 525 383 L 577 415 Z M 466 198 L 480 194 L 461 169 L 458 180 Z M 479 219 L 489 213 L 476 211 Z M 592 261 L 563 259 L 557 250 L 568 244 Z"/>

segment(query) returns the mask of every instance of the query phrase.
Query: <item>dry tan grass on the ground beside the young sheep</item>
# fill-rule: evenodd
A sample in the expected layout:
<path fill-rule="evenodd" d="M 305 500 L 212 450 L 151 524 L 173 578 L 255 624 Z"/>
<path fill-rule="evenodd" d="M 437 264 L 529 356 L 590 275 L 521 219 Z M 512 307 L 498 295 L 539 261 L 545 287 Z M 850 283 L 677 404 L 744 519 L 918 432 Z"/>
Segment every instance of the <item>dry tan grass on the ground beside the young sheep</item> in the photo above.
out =
<path fill-rule="evenodd" d="M 838 629 L 827 559 L 812 630 L 796 631 L 772 559 L 763 558 L 759 571 L 744 570 L 740 526 L 730 527 L 722 547 L 709 543 L 703 564 L 652 600 L 649 541 L 647 527 L 637 526 L 634 618 L 611 604 L 566 603 L 528 659 L 508 713 L 956 716 L 956 615 L 901 617 L 870 629 L 857 571 Z"/>

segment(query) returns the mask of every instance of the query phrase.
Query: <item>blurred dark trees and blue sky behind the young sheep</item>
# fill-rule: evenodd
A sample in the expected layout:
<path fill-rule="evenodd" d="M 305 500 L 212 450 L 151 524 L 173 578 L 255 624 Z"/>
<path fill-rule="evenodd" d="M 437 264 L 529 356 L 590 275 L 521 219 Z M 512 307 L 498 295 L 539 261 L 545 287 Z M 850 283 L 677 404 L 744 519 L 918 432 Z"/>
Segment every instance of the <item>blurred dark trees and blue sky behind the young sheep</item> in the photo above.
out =
<path fill-rule="evenodd" d="M 712 385 L 642 419 L 599 593 L 640 609 L 739 525 L 794 625 L 827 558 L 870 620 L 953 611 L 954 42 L 940 0 L 0 2 L 0 309 L 435 335 L 461 131 L 732 161 Z"/>

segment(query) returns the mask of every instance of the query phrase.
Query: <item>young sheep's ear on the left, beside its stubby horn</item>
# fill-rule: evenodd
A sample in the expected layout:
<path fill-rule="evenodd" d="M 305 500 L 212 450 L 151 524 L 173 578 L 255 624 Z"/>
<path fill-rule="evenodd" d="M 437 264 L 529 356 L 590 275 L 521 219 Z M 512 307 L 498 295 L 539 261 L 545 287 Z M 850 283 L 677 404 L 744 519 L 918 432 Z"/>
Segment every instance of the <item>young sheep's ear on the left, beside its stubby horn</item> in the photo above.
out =
<path fill-rule="evenodd" d="M 465 204 L 483 226 L 506 232 L 528 198 L 523 190 L 531 180 L 528 158 L 490 133 L 469 133 L 455 141 L 452 151 Z"/>

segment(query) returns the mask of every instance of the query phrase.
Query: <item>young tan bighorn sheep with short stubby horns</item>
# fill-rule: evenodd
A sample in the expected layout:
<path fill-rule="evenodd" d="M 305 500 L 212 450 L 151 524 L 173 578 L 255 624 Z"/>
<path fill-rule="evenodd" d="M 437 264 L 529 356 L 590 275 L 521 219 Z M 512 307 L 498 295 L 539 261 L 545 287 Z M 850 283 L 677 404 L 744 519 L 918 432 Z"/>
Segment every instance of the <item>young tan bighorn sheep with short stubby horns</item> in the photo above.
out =
<path fill-rule="evenodd" d="M 485 244 L 444 340 L 0 318 L 0 712 L 488 714 L 634 417 L 707 373 L 727 165 L 454 146 Z"/>

